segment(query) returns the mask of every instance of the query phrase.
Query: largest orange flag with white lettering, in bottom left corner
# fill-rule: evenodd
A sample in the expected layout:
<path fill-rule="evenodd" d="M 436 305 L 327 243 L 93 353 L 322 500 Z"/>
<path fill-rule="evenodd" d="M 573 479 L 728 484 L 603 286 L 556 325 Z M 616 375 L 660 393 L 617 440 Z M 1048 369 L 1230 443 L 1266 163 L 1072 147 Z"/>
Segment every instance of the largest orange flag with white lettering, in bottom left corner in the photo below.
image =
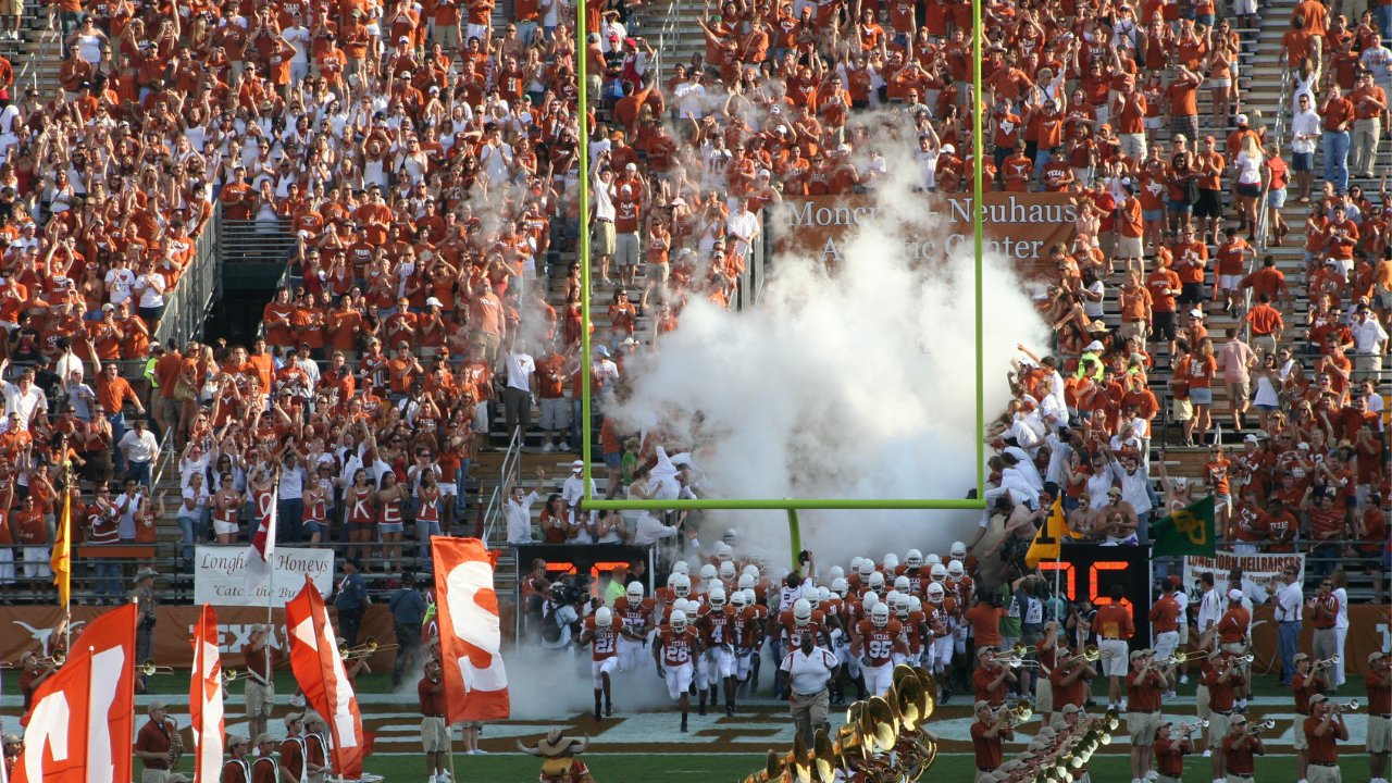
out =
<path fill-rule="evenodd" d="M 33 692 L 15 783 L 125 783 L 135 736 L 136 605 L 88 624 Z"/>

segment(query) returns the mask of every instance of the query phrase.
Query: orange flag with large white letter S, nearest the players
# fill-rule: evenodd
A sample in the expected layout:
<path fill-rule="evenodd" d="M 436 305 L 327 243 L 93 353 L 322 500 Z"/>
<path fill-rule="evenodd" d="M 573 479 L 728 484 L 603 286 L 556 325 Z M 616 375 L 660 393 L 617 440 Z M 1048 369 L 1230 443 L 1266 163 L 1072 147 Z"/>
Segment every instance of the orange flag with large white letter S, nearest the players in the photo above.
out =
<path fill-rule="evenodd" d="M 503 667 L 498 596 L 493 566 L 498 550 L 476 538 L 432 536 L 440 658 L 447 720 L 508 718 L 508 674 Z"/>

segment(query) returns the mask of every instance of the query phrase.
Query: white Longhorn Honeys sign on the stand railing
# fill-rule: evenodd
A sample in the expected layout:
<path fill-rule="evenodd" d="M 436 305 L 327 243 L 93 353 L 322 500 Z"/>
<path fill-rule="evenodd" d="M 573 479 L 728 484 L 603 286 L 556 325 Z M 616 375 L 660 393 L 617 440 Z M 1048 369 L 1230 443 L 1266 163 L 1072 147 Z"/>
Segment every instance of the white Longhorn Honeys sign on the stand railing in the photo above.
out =
<path fill-rule="evenodd" d="M 333 549 L 280 549 L 274 555 L 274 571 L 267 584 L 255 595 L 246 595 L 246 548 L 199 546 L 193 557 L 193 603 L 213 606 L 266 607 L 266 591 L 274 589 L 270 605 L 284 607 L 305 587 L 305 575 L 315 580 L 319 595 L 334 591 Z"/>

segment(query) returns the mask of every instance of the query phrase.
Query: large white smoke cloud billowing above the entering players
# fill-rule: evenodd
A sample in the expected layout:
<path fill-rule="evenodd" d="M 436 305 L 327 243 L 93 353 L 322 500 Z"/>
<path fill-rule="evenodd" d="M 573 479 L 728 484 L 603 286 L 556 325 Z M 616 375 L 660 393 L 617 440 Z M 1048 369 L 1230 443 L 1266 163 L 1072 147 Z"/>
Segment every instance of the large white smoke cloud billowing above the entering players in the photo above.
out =
<path fill-rule="evenodd" d="M 908 139 L 881 145 L 887 153 Z M 859 150 L 857 150 L 859 152 Z M 889 160 L 876 219 L 827 274 L 820 258 L 773 259 L 759 307 L 725 312 L 692 301 L 660 352 L 629 359 L 635 426 L 700 411 L 697 464 L 721 497 L 960 499 L 976 485 L 974 272 L 972 242 L 942 263 L 902 258 L 901 226 L 945 247 L 951 233 L 910 189 L 915 162 Z M 924 237 L 924 230 L 926 237 Z M 1005 372 L 1023 343 L 1048 333 L 1011 263 L 983 263 L 986 418 L 1009 398 Z M 782 511 L 713 511 L 756 549 L 785 553 Z M 970 541 L 974 511 L 803 511 L 803 545 L 825 566 L 855 555 L 947 553 Z M 778 557 L 784 560 L 784 557 Z"/>

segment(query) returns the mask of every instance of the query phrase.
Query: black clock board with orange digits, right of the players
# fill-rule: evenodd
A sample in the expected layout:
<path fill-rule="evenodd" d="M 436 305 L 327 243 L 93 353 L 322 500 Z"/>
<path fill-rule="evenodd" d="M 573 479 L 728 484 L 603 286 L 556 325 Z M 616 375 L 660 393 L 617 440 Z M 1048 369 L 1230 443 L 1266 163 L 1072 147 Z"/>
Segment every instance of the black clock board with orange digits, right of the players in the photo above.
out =
<path fill-rule="evenodd" d="M 1150 646 L 1150 546 L 1101 546 L 1065 543 L 1061 560 L 1040 560 L 1040 573 L 1052 584 L 1058 575 L 1059 592 L 1069 600 L 1090 600 L 1094 607 L 1112 602 L 1112 585 L 1122 585 L 1122 607 L 1136 626 L 1132 649 Z"/>

